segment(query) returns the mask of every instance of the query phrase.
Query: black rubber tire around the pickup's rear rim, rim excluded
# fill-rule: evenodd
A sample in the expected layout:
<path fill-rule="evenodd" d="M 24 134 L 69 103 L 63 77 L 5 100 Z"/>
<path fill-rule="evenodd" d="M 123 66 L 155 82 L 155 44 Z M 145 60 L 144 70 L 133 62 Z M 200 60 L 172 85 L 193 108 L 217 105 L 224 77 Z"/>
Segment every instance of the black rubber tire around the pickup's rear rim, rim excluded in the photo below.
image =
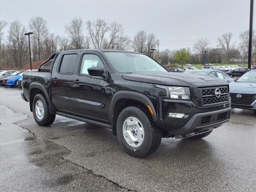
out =
<path fill-rule="evenodd" d="M 36 116 L 35 106 L 36 106 L 36 102 L 38 100 L 40 100 L 42 102 L 43 108 L 44 108 L 44 116 L 43 116 L 42 120 L 38 119 L 37 116 Z M 34 116 L 34 119 L 35 119 L 36 123 L 40 126 L 49 126 L 55 120 L 56 114 L 50 114 L 48 103 L 46 102 L 44 96 L 42 96 L 41 94 L 37 94 L 34 97 L 34 100 L 33 100 L 33 116 Z"/>

